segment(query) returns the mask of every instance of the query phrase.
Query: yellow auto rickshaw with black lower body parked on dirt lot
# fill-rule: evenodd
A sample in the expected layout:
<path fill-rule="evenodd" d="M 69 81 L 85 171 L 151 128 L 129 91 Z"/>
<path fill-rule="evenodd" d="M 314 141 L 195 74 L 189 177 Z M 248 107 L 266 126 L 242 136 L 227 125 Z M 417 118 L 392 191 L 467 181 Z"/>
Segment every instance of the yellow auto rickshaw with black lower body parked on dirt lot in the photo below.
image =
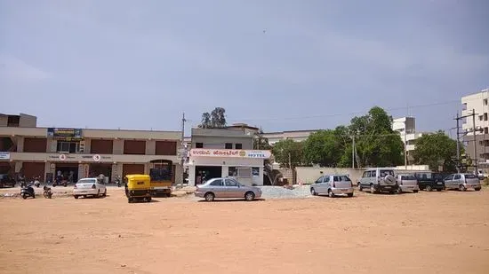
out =
<path fill-rule="evenodd" d="M 125 196 L 129 203 L 136 200 L 151 201 L 151 178 L 148 175 L 126 175 L 124 181 Z"/>

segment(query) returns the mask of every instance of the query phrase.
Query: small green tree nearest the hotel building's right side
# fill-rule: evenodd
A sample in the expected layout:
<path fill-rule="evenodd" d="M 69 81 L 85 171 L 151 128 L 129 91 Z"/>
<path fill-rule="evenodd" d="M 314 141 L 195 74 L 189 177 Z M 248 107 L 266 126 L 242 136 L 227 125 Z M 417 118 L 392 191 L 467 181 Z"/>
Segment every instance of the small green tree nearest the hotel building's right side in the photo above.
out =
<path fill-rule="evenodd" d="M 282 168 L 295 168 L 304 164 L 304 143 L 291 139 L 278 141 L 272 148 L 277 163 Z"/>

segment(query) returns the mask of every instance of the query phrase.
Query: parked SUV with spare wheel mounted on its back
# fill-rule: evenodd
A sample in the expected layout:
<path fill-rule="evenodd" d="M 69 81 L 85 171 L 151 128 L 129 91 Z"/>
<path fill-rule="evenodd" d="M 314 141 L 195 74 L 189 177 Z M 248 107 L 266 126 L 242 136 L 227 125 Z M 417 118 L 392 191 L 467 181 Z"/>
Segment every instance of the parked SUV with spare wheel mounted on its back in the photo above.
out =
<path fill-rule="evenodd" d="M 371 193 L 395 193 L 399 187 L 395 168 L 368 168 L 357 185 L 360 192 L 369 189 Z"/>

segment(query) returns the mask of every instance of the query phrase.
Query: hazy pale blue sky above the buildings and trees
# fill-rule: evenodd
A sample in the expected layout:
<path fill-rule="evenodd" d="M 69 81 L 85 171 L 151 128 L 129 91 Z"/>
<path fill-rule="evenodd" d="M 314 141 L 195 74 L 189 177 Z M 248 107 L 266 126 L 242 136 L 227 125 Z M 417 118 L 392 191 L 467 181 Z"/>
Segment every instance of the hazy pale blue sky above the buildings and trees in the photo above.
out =
<path fill-rule="evenodd" d="M 0 0 L 0 113 L 189 132 L 220 106 L 267 132 L 381 106 L 450 129 L 488 34 L 485 0 Z"/>

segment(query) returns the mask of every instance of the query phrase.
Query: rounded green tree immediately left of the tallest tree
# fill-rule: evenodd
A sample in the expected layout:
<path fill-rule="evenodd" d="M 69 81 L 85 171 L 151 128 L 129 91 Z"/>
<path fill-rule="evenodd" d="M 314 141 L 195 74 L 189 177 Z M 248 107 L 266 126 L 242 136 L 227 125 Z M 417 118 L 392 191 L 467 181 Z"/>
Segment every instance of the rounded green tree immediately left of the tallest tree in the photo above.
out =
<path fill-rule="evenodd" d="M 336 167 L 341 159 L 339 138 L 332 129 L 319 130 L 304 142 L 304 158 L 322 167 Z"/>

